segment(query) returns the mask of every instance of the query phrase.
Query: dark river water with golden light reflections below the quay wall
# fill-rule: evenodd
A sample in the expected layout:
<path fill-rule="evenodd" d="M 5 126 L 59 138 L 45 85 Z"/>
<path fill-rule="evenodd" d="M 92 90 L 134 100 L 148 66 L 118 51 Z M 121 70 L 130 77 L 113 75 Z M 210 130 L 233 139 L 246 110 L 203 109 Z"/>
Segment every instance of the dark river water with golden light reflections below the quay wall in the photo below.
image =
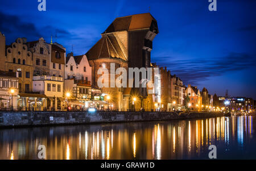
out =
<path fill-rule="evenodd" d="M 255 116 L 0 130 L 0 159 L 255 159 Z M 243 156 L 243 154 L 245 154 Z"/>

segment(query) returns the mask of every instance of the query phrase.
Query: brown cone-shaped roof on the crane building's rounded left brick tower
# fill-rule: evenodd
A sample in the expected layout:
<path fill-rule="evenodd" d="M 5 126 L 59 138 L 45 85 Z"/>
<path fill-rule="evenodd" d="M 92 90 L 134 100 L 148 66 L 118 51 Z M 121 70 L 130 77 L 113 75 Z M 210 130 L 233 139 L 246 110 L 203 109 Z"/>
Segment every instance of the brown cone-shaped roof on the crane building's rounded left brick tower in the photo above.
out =
<path fill-rule="evenodd" d="M 127 61 L 113 34 L 102 35 L 101 39 L 85 55 L 88 60 L 119 58 Z"/>

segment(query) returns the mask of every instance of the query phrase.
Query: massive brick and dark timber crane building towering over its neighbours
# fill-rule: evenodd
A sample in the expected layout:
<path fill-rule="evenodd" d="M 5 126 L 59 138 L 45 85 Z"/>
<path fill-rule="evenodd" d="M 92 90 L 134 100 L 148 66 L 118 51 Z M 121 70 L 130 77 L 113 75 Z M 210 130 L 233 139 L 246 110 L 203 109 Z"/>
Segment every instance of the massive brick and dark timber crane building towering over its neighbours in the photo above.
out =
<path fill-rule="evenodd" d="M 151 67 L 152 41 L 157 34 L 157 22 L 150 13 L 116 18 L 85 54 L 92 66 L 92 85 L 97 86 L 99 68 L 105 67 L 110 73 L 110 63 L 114 63 L 115 68 L 125 69 Z M 144 107 L 143 102 L 147 98 L 147 89 L 142 87 L 104 87 L 102 93 L 110 94 L 113 109 L 131 109 L 132 96 L 138 97 L 135 108 L 139 109 Z"/>

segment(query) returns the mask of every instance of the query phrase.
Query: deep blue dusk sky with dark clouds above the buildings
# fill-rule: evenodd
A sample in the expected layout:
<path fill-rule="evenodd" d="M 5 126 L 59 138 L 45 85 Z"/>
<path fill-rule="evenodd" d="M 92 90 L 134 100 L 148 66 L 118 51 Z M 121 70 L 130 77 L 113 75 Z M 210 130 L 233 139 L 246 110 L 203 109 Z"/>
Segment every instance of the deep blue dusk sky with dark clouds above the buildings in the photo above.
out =
<path fill-rule="evenodd" d="M 205 86 L 209 93 L 256 99 L 256 1 L 55 1 L 46 0 L 45 12 L 37 0 L 0 2 L 0 31 L 7 44 L 16 37 L 28 41 L 55 39 L 75 55 L 86 53 L 117 16 L 149 11 L 158 21 L 152 62 L 167 66 L 184 83 Z"/>

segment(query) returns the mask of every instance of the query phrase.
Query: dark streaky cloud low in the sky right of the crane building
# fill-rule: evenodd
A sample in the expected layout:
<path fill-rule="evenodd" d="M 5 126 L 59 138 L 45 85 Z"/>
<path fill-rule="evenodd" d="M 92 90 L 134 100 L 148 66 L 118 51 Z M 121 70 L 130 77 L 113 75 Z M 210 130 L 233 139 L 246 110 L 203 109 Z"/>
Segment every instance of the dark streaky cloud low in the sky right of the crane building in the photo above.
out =
<path fill-rule="evenodd" d="M 172 60 L 172 57 L 156 57 L 156 64 L 167 66 L 185 84 L 197 85 L 209 77 L 221 76 L 226 72 L 255 67 L 256 55 L 230 53 L 228 56 L 205 59 Z"/>

